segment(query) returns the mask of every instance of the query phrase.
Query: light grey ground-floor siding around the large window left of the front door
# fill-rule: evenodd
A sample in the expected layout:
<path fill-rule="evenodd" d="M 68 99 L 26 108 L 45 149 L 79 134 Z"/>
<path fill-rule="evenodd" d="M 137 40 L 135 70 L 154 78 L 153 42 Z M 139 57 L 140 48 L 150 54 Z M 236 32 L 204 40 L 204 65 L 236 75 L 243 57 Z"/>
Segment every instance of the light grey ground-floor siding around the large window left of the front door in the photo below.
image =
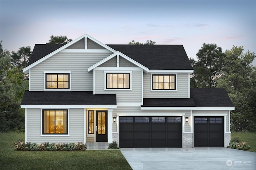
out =
<path fill-rule="evenodd" d="M 27 108 L 27 142 L 77 143 L 84 141 L 84 109 L 69 109 L 69 136 L 41 136 L 41 109 Z"/>

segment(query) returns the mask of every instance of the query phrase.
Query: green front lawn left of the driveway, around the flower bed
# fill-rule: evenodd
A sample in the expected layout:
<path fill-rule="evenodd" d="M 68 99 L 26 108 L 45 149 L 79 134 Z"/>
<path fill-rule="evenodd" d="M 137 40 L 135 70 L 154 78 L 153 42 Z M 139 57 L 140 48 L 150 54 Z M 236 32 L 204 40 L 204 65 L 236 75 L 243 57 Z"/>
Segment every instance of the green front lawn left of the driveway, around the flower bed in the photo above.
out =
<path fill-rule="evenodd" d="M 1 133 L 2 170 L 131 170 L 120 150 L 15 151 L 24 133 Z M 47 141 L 46 141 L 47 142 Z"/>

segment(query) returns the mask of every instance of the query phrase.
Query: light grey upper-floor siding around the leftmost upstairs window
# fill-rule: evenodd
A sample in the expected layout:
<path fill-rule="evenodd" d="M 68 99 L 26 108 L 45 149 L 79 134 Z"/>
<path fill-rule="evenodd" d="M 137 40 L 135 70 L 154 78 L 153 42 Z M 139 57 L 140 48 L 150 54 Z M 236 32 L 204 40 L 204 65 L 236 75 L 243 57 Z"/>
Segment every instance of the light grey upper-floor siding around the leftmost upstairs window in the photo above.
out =
<path fill-rule="evenodd" d="M 58 53 L 30 69 L 30 90 L 44 90 L 44 71 L 71 71 L 72 91 L 92 91 L 93 72 L 87 68 L 112 53 Z"/>

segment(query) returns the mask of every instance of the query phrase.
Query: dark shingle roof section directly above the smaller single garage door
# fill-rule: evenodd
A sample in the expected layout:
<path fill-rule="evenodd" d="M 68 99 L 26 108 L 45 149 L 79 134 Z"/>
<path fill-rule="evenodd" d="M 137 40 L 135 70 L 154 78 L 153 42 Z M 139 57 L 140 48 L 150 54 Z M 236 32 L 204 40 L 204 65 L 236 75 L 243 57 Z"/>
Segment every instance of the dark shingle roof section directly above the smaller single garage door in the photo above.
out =
<path fill-rule="evenodd" d="M 196 107 L 234 107 L 223 88 L 191 88 L 190 98 L 194 99 Z"/>

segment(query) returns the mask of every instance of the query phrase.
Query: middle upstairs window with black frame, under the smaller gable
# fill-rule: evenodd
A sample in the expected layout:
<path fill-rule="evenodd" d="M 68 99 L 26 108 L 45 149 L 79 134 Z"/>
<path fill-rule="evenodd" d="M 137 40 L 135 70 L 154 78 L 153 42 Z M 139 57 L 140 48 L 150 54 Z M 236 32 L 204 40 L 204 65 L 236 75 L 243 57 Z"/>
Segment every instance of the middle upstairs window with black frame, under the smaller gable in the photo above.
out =
<path fill-rule="evenodd" d="M 130 73 L 106 73 L 106 89 L 130 89 Z"/>

